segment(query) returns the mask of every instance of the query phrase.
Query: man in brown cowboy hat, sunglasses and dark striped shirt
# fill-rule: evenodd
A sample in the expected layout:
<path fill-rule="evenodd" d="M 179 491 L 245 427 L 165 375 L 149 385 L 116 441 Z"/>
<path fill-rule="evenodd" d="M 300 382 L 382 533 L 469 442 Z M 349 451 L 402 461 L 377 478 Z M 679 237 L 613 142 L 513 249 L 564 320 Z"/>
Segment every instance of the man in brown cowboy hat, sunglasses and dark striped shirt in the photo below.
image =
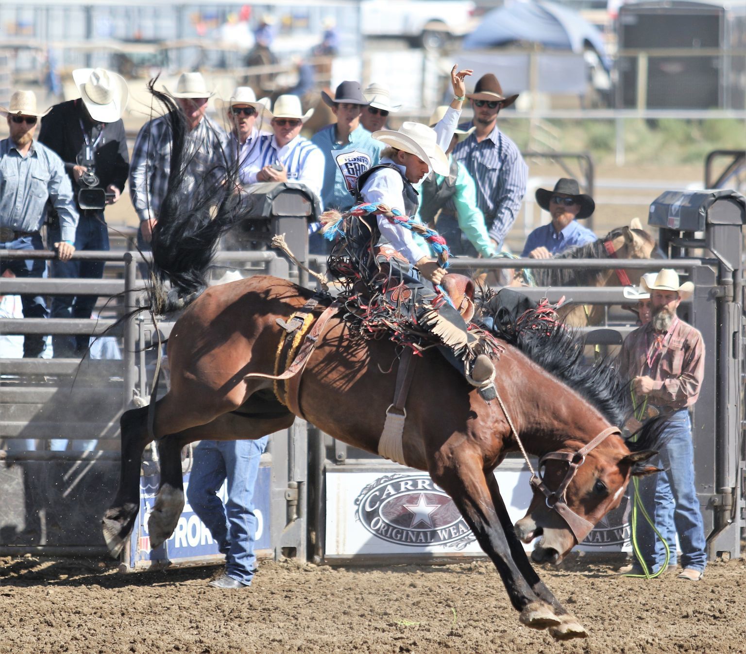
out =
<path fill-rule="evenodd" d="M 518 95 L 503 95 L 494 74 L 480 77 L 471 100 L 474 118 L 462 129 L 474 132 L 454 148 L 454 156 L 466 166 L 477 184 L 477 205 L 482 210 L 495 247 L 503 246 L 526 193 L 528 167 L 518 146 L 498 129 L 501 109 Z"/>

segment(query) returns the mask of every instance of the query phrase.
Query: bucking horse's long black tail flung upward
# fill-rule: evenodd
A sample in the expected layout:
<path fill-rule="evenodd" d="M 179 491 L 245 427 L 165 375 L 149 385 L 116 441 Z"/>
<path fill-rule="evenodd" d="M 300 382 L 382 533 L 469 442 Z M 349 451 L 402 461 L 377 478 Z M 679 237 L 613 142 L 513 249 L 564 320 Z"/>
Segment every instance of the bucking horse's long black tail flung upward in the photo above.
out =
<path fill-rule="evenodd" d="M 155 82 L 148 89 L 166 108 L 172 138 L 169 182 L 151 240 L 152 308 L 165 313 L 204 291 L 220 237 L 248 216 L 251 203 L 237 191 L 238 165 L 230 160 L 225 134 L 206 122 L 206 136 L 190 136 L 183 112 Z"/>

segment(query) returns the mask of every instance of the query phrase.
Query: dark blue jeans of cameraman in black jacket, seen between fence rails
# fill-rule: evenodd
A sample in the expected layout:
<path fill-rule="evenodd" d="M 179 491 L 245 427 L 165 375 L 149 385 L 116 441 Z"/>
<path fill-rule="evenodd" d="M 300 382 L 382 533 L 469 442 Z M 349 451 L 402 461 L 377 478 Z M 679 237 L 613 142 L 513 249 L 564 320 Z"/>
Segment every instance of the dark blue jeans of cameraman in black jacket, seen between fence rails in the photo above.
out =
<path fill-rule="evenodd" d="M 49 229 L 49 245 L 60 241 L 59 226 Z M 109 250 L 109 230 L 104 223 L 104 212 L 84 211 L 75 230 L 75 250 Z M 104 261 L 51 262 L 51 276 L 64 279 L 101 279 Z M 51 317 L 88 319 L 98 298 L 95 295 L 57 295 L 51 301 Z M 88 349 L 89 334 L 54 334 L 51 338 L 54 357 L 81 356 Z"/>

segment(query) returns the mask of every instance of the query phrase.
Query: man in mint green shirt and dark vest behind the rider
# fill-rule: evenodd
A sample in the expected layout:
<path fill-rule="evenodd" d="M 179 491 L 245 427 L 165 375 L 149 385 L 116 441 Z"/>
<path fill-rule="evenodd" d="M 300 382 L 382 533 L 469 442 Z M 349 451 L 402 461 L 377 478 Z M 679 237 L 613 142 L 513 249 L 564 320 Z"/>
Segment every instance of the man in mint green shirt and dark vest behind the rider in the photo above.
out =
<path fill-rule="evenodd" d="M 430 116 L 430 127 L 442 120 L 448 107 L 438 107 Z M 456 255 L 495 254 L 495 245 L 487 234 L 484 215 L 477 206 L 477 190 L 474 180 L 452 152 L 458 142 L 471 131 L 457 129 L 445 151 L 450 165 L 448 175 L 434 171 L 425 177 L 420 189 L 419 215 L 426 223 L 433 223 L 435 229 L 448 242 L 451 253 Z"/>

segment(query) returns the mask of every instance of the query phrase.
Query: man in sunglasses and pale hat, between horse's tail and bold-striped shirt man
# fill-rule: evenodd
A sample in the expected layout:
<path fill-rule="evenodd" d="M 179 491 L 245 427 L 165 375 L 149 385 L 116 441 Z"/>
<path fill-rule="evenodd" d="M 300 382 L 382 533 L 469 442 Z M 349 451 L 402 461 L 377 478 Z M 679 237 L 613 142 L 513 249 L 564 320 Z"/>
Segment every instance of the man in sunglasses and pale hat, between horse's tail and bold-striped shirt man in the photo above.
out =
<path fill-rule="evenodd" d="M 219 100 L 218 104 L 225 111 L 231 126 L 226 147 L 228 161 L 238 165 L 239 180 L 245 184 L 251 164 L 260 153 L 261 135 L 266 134 L 269 128 L 269 98 L 257 101 L 254 89 L 237 86 L 228 101 Z"/>

